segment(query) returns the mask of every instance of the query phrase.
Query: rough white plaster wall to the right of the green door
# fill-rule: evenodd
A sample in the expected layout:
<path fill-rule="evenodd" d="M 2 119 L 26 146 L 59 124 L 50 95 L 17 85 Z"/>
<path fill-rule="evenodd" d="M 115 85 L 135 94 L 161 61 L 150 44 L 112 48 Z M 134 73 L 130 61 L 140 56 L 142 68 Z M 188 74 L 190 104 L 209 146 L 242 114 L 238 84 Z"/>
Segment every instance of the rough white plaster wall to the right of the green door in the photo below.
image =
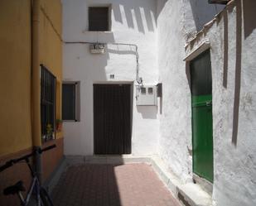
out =
<path fill-rule="evenodd" d="M 205 29 L 204 36 L 197 36 L 196 41 L 187 46 L 186 52 L 195 49 L 205 39 L 210 41 L 214 205 L 253 206 L 256 205 L 256 60 L 251 54 L 256 51 L 256 26 L 253 21 L 247 22 L 253 19 L 247 15 L 253 13 L 256 3 L 244 1 L 244 15 L 240 14 L 242 9 L 236 3 L 239 1 L 229 5 L 209 30 Z M 224 41 L 225 38 L 228 41 Z M 234 103 L 239 105 L 237 111 Z M 237 117 L 239 125 L 236 136 L 233 135 L 236 129 L 233 125 Z"/>

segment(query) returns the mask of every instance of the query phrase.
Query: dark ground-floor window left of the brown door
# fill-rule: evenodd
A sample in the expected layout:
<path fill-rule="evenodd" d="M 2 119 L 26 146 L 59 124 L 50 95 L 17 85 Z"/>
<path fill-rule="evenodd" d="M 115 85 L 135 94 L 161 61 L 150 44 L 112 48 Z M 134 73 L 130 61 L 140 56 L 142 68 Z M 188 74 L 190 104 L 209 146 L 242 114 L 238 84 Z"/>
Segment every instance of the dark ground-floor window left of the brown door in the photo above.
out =
<path fill-rule="evenodd" d="M 64 121 L 79 121 L 79 83 L 62 84 L 62 119 Z"/>

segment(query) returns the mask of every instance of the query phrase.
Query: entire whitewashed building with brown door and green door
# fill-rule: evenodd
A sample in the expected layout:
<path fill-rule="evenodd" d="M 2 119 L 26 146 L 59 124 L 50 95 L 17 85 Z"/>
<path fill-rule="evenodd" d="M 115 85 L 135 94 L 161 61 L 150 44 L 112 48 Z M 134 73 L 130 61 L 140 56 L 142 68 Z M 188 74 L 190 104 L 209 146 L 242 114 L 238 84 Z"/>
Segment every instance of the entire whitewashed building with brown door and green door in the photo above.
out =
<path fill-rule="evenodd" d="M 222 2 L 63 0 L 65 155 L 157 156 L 188 204 L 256 205 L 256 3 Z"/>

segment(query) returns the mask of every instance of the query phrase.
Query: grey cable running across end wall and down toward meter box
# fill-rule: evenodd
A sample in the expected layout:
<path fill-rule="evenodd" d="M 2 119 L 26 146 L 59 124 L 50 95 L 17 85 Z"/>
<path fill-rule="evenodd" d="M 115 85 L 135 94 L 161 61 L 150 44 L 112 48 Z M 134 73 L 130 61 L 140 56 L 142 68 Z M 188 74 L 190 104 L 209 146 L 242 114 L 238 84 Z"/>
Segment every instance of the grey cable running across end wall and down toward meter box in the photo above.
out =
<path fill-rule="evenodd" d="M 102 42 L 89 42 L 89 41 L 64 41 L 65 44 L 102 44 L 102 45 L 116 45 L 116 46 L 134 46 L 136 53 L 136 81 L 138 84 L 142 84 L 142 78 L 139 76 L 139 55 L 138 46 L 135 44 L 127 43 L 102 43 Z"/>

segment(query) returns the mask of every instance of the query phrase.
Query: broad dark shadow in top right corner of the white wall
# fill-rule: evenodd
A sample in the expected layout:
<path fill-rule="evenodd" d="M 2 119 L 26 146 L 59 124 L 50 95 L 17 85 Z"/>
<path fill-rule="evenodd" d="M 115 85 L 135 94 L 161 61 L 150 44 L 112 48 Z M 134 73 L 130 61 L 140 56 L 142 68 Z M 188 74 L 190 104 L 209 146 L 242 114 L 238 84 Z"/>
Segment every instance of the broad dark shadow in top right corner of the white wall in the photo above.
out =
<path fill-rule="evenodd" d="M 246 39 L 256 28 L 255 21 L 255 0 L 244 0 L 244 38 Z"/>

